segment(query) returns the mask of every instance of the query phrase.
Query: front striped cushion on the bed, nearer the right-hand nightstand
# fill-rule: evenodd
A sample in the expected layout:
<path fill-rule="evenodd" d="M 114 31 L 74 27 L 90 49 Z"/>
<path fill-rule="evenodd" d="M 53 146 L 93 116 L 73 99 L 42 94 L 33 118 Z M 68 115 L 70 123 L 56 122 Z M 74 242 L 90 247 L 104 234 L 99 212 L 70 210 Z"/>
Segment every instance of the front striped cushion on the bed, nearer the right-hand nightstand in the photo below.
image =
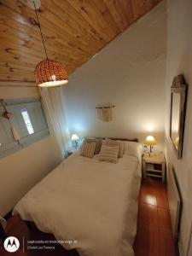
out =
<path fill-rule="evenodd" d="M 112 147 L 112 146 L 102 145 L 102 148 L 99 154 L 99 160 L 113 162 L 114 164 L 116 164 L 118 161 L 118 154 L 119 154 L 119 146 Z"/>

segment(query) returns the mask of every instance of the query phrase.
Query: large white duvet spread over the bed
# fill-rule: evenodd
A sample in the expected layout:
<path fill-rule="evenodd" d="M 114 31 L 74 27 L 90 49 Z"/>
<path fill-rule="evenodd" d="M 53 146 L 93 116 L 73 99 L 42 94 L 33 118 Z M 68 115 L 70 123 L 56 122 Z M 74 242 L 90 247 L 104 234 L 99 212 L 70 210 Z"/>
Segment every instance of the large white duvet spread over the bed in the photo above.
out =
<path fill-rule="evenodd" d="M 132 256 L 141 165 L 125 154 L 117 164 L 72 154 L 16 205 L 24 220 L 57 240 L 77 240 L 81 256 Z"/>

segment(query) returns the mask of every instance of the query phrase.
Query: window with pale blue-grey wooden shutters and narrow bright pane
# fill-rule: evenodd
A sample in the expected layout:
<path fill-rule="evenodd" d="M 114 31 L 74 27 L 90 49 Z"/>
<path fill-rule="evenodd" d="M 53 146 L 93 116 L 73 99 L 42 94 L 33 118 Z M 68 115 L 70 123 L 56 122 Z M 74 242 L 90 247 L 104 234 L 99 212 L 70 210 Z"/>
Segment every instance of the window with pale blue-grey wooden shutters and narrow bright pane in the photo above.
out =
<path fill-rule="evenodd" d="M 49 135 L 47 121 L 39 98 L 3 100 L 11 113 L 10 119 L 3 117 L 0 104 L 0 158 L 12 154 Z M 18 133 L 15 141 L 13 128 Z"/>

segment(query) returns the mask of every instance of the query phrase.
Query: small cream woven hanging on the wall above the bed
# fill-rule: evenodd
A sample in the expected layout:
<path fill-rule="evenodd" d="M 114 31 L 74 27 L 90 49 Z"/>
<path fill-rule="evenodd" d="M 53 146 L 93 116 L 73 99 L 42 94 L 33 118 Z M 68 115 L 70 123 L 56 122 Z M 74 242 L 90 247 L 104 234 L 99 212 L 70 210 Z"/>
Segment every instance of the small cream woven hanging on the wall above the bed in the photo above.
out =
<path fill-rule="evenodd" d="M 113 120 L 113 108 L 114 105 L 112 104 L 97 105 L 96 110 L 98 119 L 103 122 L 111 122 Z"/>

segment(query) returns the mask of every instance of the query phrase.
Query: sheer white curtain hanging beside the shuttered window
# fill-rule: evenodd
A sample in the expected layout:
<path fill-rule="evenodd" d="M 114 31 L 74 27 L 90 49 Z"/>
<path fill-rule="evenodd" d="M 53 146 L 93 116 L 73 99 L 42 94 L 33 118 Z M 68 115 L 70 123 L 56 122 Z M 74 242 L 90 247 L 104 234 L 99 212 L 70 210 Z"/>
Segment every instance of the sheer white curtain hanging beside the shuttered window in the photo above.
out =
<path fill-rule="evenodd" d="M 65 98 L 61 87 L 40 89 L 44 112 L 48 121 L 50 134 L 60 148 L 61 160 L 70 148 L 70 137 L 65 117 Z"/>

